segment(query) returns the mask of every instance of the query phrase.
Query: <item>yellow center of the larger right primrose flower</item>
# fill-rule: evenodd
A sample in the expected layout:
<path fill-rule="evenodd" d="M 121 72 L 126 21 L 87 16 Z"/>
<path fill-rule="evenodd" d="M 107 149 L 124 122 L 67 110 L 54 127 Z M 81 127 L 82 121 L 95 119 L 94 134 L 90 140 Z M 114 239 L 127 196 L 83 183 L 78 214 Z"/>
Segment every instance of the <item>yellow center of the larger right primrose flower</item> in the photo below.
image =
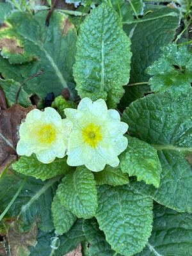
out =
<path fill-rule="evenodd" d="M 86 143 L 91 147 L 97 147 L 99 141 L 102 140 L 102 134 L 100 133 L 100 126 L 90 123 L 83 129 L 83 138 Z"/>

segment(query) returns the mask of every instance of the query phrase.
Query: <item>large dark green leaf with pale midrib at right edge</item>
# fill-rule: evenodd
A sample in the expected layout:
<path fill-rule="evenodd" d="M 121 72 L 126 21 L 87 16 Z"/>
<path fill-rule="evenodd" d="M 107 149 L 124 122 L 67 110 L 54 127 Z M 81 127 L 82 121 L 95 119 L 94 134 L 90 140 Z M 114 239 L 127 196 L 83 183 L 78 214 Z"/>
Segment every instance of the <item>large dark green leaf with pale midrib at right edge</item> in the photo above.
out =
<path fill-rule="evenodd" d="M 136 100 L 127 108 L 122 120 L 129 124 L 129 133 L 150 143 L 158 150 L 162 166 L 159 188 L 141 187 L 154 200 L 177 211 L 192 211 L 191 156 L 192 91 L 174 97 L 157 93 Z"/>

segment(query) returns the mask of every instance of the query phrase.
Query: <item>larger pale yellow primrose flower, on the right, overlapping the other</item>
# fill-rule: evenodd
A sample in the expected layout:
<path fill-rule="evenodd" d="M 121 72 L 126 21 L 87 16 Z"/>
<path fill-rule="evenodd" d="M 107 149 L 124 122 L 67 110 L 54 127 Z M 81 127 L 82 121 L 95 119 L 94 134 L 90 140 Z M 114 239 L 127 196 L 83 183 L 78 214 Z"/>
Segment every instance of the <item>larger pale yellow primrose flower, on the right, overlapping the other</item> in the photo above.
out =
<path fill-rule="evenodd" d="M 65 109 L 67 120 L 73 123 L 68 140 L 67 164 L 85 165 L 93 172 L 100 172 L 106 164 L 116 167 L 118 155 L 127 148 L 128 125 L 120 122 L 115 109 L 109 109 L 102 99 L 92 102 L 84 98 L 77 109 Z"/>

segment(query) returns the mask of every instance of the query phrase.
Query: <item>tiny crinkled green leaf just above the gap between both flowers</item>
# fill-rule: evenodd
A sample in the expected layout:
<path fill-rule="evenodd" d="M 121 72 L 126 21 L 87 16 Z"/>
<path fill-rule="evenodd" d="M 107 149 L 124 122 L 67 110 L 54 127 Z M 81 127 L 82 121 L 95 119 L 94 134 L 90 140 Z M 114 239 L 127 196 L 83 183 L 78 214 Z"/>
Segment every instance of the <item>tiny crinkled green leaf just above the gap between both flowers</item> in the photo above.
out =
<path fill-rule="evenodd" d="M 64 109 L 65 108 L 77 108 L 77 104 L 71 100 L 66 100 L 62 95 L 56 97 L 51 104 L 52 108 L 56 108 L 58 113 L 60 113 L 62 118 L 65 118 Z"/>

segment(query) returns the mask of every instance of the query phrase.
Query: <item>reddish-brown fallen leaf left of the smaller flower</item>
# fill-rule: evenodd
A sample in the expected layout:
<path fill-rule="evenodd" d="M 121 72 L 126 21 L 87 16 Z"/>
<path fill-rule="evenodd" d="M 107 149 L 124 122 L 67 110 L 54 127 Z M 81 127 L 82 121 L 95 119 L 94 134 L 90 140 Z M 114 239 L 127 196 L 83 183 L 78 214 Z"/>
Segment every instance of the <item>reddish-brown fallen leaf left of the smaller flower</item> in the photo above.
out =
<path fill-rule="evenodd" d="M 34 106 L 23 108 L 15 104 L 9 109 L 0 110 L 0 173 L 9 163 L 17 159 L 15 147 L 19 140 L 18 127 L 21 120 L 34 108 Z"/>

